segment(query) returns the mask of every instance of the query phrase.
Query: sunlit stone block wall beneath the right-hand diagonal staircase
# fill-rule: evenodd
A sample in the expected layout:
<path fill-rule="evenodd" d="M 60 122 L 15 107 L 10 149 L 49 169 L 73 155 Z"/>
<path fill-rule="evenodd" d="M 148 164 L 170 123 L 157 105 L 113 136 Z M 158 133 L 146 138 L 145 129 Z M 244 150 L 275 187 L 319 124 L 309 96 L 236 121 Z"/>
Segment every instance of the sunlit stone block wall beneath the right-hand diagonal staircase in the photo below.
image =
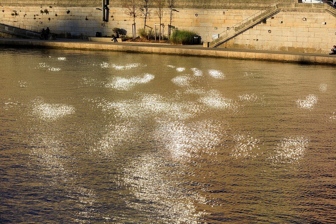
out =
<path fill-rule="evenodd" d="M 327 12 L 281 11 L 220 47 L 329 53 L 336 18 Z"/>

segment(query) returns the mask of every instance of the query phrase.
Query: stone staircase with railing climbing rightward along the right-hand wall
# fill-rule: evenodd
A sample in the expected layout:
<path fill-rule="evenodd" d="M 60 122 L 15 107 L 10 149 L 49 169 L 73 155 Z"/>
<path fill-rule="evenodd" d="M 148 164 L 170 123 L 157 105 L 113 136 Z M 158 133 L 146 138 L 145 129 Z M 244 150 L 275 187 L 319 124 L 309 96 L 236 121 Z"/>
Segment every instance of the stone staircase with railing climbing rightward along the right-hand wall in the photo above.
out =
<path fill-rule="evenodd" d="M 225 43 L 226 41 L 235 38 L 239 34 L 251 29 L 252 27 L 262 23 L 262 21 L 267 20 L 271 16 L 279 13 L 280 11 L 301 11 L 301 12 L 327 12 L 334 17 L 336 17 L 336 9 L 328 4 L 322 3 L 278 3 L 272 7 L 268 7 L 267 10 L 261 12 L 258 15 L 250 16 L 252 17 L 250 20 L 245 19 L 238 25 L 237 27 L 232 27 L 230 30 L 224 31 L 220 37 L 211 41 L 209 43 L 209 47 L 218 47 L 219 45 Z M 246 22 L 245 22 L 246 21 Z"/>

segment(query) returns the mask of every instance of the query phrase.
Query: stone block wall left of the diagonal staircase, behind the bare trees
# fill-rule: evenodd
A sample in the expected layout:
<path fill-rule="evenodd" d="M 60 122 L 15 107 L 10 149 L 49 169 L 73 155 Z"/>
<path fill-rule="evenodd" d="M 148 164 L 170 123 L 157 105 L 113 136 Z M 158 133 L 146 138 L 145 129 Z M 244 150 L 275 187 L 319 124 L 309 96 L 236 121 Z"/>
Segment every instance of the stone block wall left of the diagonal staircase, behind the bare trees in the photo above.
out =
<path fill-rule="evenodd" d="M 41 10 L 48 10 L 48 14 Z M 153 14 L 154 14 L 153 9 Z M 219 34 L 226 27 L 241 22 L 260 10 L 250 9 L 177 9 L 174 13 L 172 26 L 179 29 L 195 30 L 200 33 L 203 41 L 211 41 L 212 34 Z M 16 14 L 15 15 L 15 12 Z M 68 13 L 68 11 L 70 11 Z M 12 15 L 14 13 L 14 15 Z M 164 34 L 168 32 L 169 10 L 164 10 L 161 23 L 165 24 Z M 57 16 L 56 16 L 57 14 Z M 197 14 L 197 16 L 196 16 Z M 126 29 L 132 36 L 133 17 L 125 13 L 124 8 L 110 8 L 109 22 L 102 22 L 102 11 L 92 7 L 60 7 L 60 6 L 0 6 L 0 18 L 25 23 L 42 28 L 49 27 L 52 33 L 71 33 L 85 37 L 95 36 L 101 32 L 103 36 L 111 36 L 114 27 Z M 49 20 L 50 18 L 50 20 Z M 144 22 L 136 18 L 137 29 L 143 28 Z M 146 25 L 155 27 L 158 18 L 151 18 Z"/>

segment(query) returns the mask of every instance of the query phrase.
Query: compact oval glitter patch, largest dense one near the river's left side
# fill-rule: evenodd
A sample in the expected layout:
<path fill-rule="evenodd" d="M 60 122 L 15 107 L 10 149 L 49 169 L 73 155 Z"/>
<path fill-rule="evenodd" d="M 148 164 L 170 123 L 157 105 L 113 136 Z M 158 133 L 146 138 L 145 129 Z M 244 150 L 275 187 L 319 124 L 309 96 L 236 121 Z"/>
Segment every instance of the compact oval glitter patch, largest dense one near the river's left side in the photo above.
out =
<path fill-rule="evenodd" d="M 67 104 L 48 104 L 37 100 L 33 105 L 33 113 L 40 119 L 48 121 L 54 121 L 75 112 L 75 108 Z"/>

